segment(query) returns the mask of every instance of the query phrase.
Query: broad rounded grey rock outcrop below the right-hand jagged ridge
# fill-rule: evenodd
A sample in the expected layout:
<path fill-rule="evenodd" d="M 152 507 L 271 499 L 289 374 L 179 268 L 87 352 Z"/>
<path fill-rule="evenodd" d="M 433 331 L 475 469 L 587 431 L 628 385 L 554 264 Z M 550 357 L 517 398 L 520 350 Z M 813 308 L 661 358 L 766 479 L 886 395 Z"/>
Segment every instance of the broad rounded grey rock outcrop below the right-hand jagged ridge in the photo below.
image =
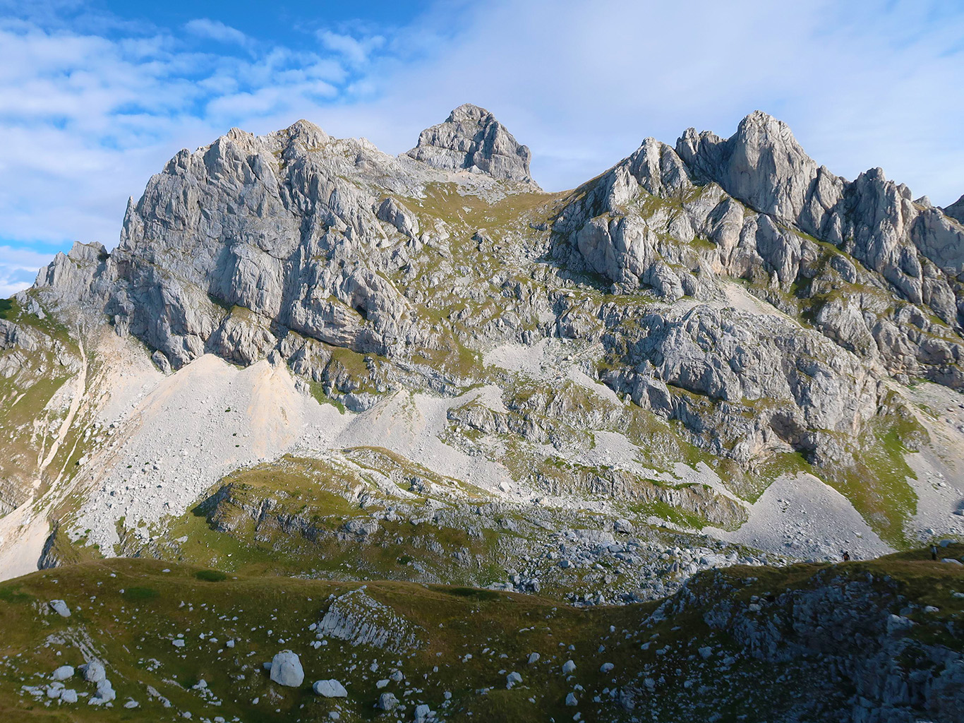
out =
<path fill-rule="evenodd" d="M 610 378 L 633 401 L 677 419 L 703 417 L 717 448 L 738 440 L 732 456 L 747 462 L 764 448 L 806 451 L 815 458 L 837 453 L 836 435 L 852 436 L 877 414 L 881 383 L 853 355 L 830 340 L 778 317 L 696 307 L 680 318 L 659 314 L 639 320 L 630 361 L 634 371 Z M 669 388 L 717 400 L 707 417 L 699 402 Z M 733 415 L 727 407 L 759 414 Z M 737 418 L 738 417 L 738 418 Z"/>

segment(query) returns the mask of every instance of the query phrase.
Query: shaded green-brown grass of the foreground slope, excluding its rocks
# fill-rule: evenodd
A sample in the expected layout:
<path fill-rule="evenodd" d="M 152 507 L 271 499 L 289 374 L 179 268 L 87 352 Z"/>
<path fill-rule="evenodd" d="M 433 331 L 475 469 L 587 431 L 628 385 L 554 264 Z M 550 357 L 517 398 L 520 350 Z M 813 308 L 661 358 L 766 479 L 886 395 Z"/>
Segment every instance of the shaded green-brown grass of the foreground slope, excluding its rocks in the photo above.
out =
<path fill-rule="evenodd" d="M 964 547 L 942 551 L 960 556 Z M 381 692 L 375 682 L 388 678 L 396 668 L 403 671 L 414 692 L 406 698 L 405 685 L 400 683 L 390 683 L 385 690 L 409 704 L 400 713 L 409 720 L 415 703 L 422 702 L 442 710 L 445 719 L 452 721 L 553 717 L 561 721 L 572 719 L 576 710 L 586 720 L 627 720 L 629 712 L 603 690 L 616 685 L 642 687 L 643 671 L 659 681 L 659 695 L 637 700 L 635 713 L 643 712 L 645 717 L 650 709 L 658 713 L 657 719 L 684 719 L 679 716 L 685 716 L 687 707 L 702 705 L 694 703 L 697 698 L 683 688 L 687 677 L 708 686 L 698 697 L 706 700 L 705 714 L 722 712 L 727 720 L 744 713 L 772 719 L 768 716 L 812 703 L 799 698 L 810 680 L 794 679 L 799 675 L 795 662 L 764 665 L 752 657 L 740 657 L 726 634 L 710 633 L 699 609 L 644 628 L 641 624 L 656 603 L 574 609 L 492 591 L 375 582 L 368 583 L 366 593 L 413 626 L 420 646 L 388 653 L 329 638 L 328 645 L 316 651 L 309 645 L 314 635 L 308 625 L 324 614 L 329 596 L 362 583 L 273 576 L 219 579 L 222 576 L 199 576 L 199 572 L 157 561 L 115 559 L 43 571 L 0 585 L 0 710 L 13 713 L 10 719 L 24 721 L 174 720 L 182 710 L 192 711 L 201 720 L 222 715 L 228 720 L 238 716 L 245 721 L 311 721 L 327 719 L 340 705 L 342 720 L 392 719 L 378 715 L 373 704 Z M 909 600 L 938 606 L 939 613 L 917 614 L 919 625 L 912 634 L 961 650 L 964 641 L 947 629 L 953 629 L 951 621 L 959 621 L 964 614 L 964 600 L 952 595 L 964 589 L 964 569 L 932 563 L 924 551 L 835 568 L 733 568 L 717 575 L 739 588 L 734 600 L 746 602 L 771 591 L 867 579 L 868 573 L 887 590 L 896 588 Z M 698 576 L 693 585 L 710 584 L 713 575 Z M 73 610 L 71 617 L 49 613 L 45 603 L 51 599 L 66 600 Z M 897 600 L 897 606 L 902 604 Z M 177 633 L 187 641 L 183 649 L 171 643 Z M 201 633 L 206 639 L 201 639 Z M 236 641 L 233 649 L 224 645 L 228 639 Z M 644 641 L 656 644 L 644 650 Z M 694 654 L 707 642 L 737 657 L 723 680 L 716 673 L 699 679 L 702 663 Z M 118 691 L 113 709 L 94 710 L 83 700 L 75 706 L 55 702 L 44 707 L 19 693 L 22 684 L 44 683 L 58 665 L 83 662 L 80 644 L 107 662 L 108 677 Z M 657 646 L 662 654 L 656 653 Z M 297 689 L 270 683 L 260 670 L 262 661 L 285 648 L 295 651 L 305 666 L 306 682 Z M 525 658 L 532 652 L 540 653 L 542 659 L 529 666 Z M 466 654 L 472 657 L 463 661 Z M 570 658 L 576 661 L 576 675 L 567 681 L 559 669 Z M 377 672 L 370 670 L 375 661 Z M 613 663 L 613 671 L 603 675 L 603 662 Z M 507 690 L 505 676 L 514 670 L 522 674 L 522 685 Z M 774 683 L 779 675 L 788 676 L 790 684 Z M 310 691 L 310 683 L 328 678 L 348 687 L 349 697 L 340 704 Z M 220 705 L 208 705 L 192 690 L 200 679 L 222 701 Z M 743 680 L 746 685 L 738 684 Z M 93 692 L 93 685 L 79 677 L 68 684 Z M 169 698 L 173 708 L 149 701 L 148 684 Z M 576 709 L 564 703 L 573 690 L 580 699 Z M 443 707 L 445 691 L 452 693 L 452 700 Z M 601 702 L 593 701 L 596 695 Z M 128 697 L 141 708 L 121 708 Z"/>

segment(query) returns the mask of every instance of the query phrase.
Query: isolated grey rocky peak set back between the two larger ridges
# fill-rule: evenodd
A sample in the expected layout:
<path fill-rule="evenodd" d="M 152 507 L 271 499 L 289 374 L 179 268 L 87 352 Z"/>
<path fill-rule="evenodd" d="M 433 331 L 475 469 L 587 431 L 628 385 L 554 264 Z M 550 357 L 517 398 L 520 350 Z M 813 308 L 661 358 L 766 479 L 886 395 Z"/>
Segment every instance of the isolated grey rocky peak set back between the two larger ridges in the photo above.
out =
<path fill-rule="evenodd" d="M 521 146 L 492 113 L 470 103 L 423 130 L 407 155 L 444 171 L 468 170 L 535 185 L 529 175 L 528 147 Z"/>

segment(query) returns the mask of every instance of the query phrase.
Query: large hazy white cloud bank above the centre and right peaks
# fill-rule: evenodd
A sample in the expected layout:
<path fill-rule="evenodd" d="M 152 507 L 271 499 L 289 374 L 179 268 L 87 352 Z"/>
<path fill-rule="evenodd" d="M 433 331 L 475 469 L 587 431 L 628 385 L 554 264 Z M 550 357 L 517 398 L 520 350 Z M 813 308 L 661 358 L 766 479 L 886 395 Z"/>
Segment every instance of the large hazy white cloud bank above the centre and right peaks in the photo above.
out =
<path fill-rule="evenodd" d="M 401 150 L 470 100 L 532 148 L 533 175 L 558 189 L 602 172 L 645 136 L 674 143 L 690 125 L 726 136 L 759 108 L 787 120 L 831 170 L 853 177 L 880 165 L 946 204 L 964 192 L 964 96 L 952 90 L 964 82 L 964 13 L 935 17 L 926 5 L 471 5 L 417 29 L 415 40 L 397 39 L 425 57 L 376 65 L 368 78 L 379 99 L 328 116 L 344 119 L 339 132 L 368 126 L 372 140 Z"/>

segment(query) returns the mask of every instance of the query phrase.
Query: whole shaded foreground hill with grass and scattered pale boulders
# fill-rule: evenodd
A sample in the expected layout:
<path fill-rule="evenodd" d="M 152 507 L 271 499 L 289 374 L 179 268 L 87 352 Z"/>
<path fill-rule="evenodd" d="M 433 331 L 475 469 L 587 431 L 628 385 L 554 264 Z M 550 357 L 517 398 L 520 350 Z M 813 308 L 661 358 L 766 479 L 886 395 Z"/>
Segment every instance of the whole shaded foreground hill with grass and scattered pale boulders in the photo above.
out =
<path fill-rule="evenodd" d="M 712 570 L 662 601 L 584 609 L 467 587 L 68 565 L 0 586 L 0 710 L 23 721 L 951 723 L 964 704 L 964 546 L 940 554 Z M 304 672 L 293 685 L 262 666 L 285 650 Z M 99 687 L 84 677 L 100 677 L 98 662 Z M 54 681 L 64 665 L 72 675 Z M 343 695 L 319 695 L 315 681 Z"/>

